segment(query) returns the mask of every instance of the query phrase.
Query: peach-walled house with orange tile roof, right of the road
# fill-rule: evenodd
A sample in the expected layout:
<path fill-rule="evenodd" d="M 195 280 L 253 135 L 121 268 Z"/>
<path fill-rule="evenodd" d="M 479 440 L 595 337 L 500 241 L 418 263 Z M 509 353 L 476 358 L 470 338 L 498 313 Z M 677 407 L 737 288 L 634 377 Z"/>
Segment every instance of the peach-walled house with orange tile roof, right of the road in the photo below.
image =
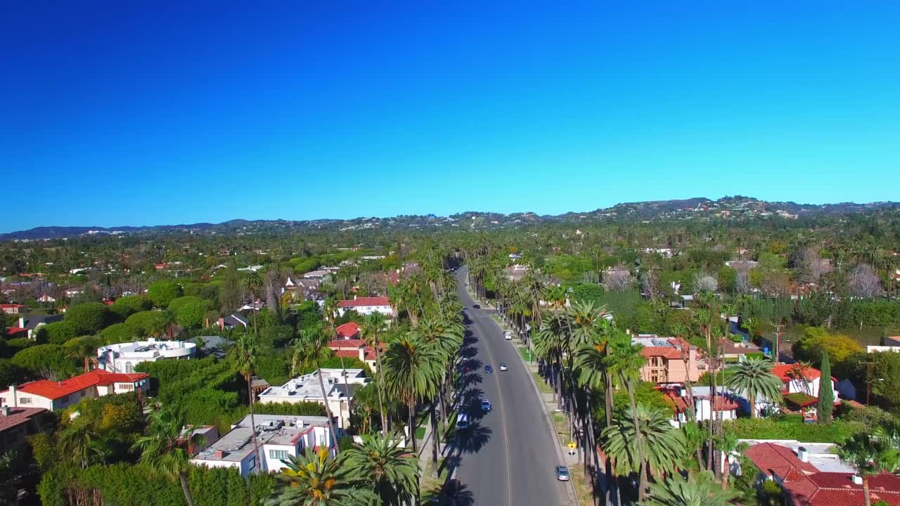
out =
<path fill-rule="evenodd" d="M 632 337 L 631 344 L 643 347 L 641 355 L 647 359 L 641 367 L 644 381 L 657 384 L 694 382 L 707 370 L 707 362 L 700 357 L 697 347 L 687 341 L 640 334 Z"/>

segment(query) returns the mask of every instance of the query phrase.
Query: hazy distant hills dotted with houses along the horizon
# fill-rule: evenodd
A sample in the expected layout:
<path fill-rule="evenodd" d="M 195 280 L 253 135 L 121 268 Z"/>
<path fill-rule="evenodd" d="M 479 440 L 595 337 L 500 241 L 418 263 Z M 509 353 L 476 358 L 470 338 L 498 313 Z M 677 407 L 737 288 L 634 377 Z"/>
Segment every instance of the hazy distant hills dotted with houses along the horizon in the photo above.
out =
<path fill-rule="evenodd" d="M 8 234 L 0 234 L 0 240 L 62 239 L 85 235 L 123 235 L 160 233 L 293 233 L 304 230 L 368 230 L 460 228 L 496 229 L 530 225 L 541 222 L 581 221 L 658 221 L 658 220 L 743 220 L 743 219 L 797 219 L 802 216 L 827 214 L 852 214 L 892 209 L 900 203 L 826 203 L 808 204 L 793 202 L 766 202 L 752 197 L 735 195 L 718 200 L 695 197 L 680 200 L 617 203 L 608 208 L 590 212 L 566 212 L 560 215 L 538 215 L 534 212 L 460 212 L 442 217 L 428 214 L 402 215 L 391 218 L 356 218 L 353 220 L 230 220 L 221 223 L 193 223 L 182 225 L 157 225 L 144 227 L 37 227 Z"/>

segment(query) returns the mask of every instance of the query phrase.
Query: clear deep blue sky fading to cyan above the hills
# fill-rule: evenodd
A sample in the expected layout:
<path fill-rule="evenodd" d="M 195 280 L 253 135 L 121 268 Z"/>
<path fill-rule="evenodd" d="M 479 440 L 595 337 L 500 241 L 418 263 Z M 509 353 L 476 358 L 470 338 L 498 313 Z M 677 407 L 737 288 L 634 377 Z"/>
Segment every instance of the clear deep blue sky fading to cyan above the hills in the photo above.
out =
<path fill-rule="evenodd" d="M 51 4 L 0 7 L 0 231 L 900 200 L 898 2 Z"/>

